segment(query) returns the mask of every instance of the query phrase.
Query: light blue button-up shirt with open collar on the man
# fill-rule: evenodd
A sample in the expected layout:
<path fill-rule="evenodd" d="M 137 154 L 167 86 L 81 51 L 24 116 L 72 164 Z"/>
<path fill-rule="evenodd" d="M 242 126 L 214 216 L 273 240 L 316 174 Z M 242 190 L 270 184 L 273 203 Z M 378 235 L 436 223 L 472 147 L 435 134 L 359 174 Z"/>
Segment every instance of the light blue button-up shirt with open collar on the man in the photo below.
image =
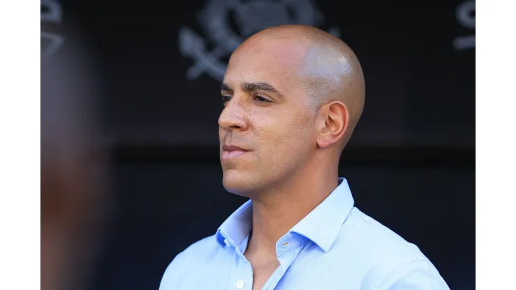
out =
<path fill-rule="evenodd" d="M 261 289 L 449 289 L 437 269 L 390 229 L 354 207 L 347 181 L 276 243 L 280 266 Z M 217 233 L 178 254 L 160 290 L 252 289 L 243 256 L 252 226 L 245 202 Z"/>

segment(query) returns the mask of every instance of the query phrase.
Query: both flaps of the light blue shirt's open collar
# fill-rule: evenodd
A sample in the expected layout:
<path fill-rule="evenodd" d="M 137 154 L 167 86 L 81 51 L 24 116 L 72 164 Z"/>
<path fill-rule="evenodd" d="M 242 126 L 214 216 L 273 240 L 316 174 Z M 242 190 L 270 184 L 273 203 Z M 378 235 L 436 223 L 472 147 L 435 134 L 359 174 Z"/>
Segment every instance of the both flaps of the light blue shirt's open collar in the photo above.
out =
<path fill-rule="evenodd" d="M 354 199 L 345 178 L 313 211 L 298 222 L 290 231 L 305 236 L 328 252 L 340 233 L 340 228 L 354 206 Z M 218 228 L 215 234 L 221 245 L 236 246 L 248 236 L 252 227 L 252 203 L 240 206 Z"/>

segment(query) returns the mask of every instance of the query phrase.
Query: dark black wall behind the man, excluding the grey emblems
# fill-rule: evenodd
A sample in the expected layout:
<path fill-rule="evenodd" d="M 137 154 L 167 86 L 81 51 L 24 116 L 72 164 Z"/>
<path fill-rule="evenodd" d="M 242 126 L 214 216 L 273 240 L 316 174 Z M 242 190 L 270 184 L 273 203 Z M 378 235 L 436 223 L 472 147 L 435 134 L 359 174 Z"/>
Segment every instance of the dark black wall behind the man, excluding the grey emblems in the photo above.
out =
<path fill-rule="evenodd" d="M 354 49 L 366 104 L 340 176 L 356 206 L 418 245 L 451 289 L 473 289 L 475 49 L 474 40 L 454 43 L 474 38 L 474 1 L 462 18 L 457 9 L 466 1 L 291 1 L 306 5 L 290 9 L 288 19 L 273 8 L 279 1 L 261 2 L 243 14 L 249 26 L 313 24 L 340 31 Z M 200 21 L 209 3 L 222 8 L 205 19 L 222 20 L 235 40 L 247 36 L 222 0 L 61 1 L 61 21 L 42 19 L 42 31 L 63 36 L 62 49 L 63 26 L 80 31 L 105 89 L 98 99 L 114 203 L 95 289 L 157 289 L 174 256 L 215 234 L 245 201 L 222 188 L 220 79 L 188 79 L 195 60 L 180 49 L 182 27 L 208 51 L 228 45 L 210 38 Z M 300 11 L 314 8 L 319 21 L 303 22 Z"/>

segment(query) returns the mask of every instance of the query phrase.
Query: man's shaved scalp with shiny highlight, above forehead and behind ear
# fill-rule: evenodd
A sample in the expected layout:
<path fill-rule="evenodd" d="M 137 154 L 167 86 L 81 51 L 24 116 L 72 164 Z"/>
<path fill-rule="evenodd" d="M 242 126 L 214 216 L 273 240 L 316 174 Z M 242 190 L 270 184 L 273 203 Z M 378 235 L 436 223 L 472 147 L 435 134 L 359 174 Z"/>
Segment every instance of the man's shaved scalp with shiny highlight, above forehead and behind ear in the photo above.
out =
<path fill-rule="evenodd" d="M 313 26 L 284 25 L 265 29 L 251 36 L 235 54 L 270 43 L 289 43 L 293 77 L 313 107 L 340 101 L 349 113 L 347 132 L 342 148 L 351 137 L 361 117 L 365 101 L 365 83 L 361 64 L 351 48 L 342 40 Z M 261 49 L 259 49 L 261 50 Z"/>

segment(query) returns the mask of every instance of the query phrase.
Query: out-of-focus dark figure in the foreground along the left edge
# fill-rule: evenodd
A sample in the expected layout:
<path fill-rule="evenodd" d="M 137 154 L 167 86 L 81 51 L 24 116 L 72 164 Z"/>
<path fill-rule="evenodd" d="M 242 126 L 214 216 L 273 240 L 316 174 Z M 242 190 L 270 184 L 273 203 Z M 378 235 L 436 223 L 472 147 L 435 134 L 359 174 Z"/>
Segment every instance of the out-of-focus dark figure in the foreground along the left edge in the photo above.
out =
<path fill-rule="evenodd" d="M 81 54 L 41 61 L 41 289 L 88 289 L 103 217 L 105 173 Z M 70 53 L 73 52 L 73 53 Z M 43 54 L 42 54 L 43 56 Z"/>

